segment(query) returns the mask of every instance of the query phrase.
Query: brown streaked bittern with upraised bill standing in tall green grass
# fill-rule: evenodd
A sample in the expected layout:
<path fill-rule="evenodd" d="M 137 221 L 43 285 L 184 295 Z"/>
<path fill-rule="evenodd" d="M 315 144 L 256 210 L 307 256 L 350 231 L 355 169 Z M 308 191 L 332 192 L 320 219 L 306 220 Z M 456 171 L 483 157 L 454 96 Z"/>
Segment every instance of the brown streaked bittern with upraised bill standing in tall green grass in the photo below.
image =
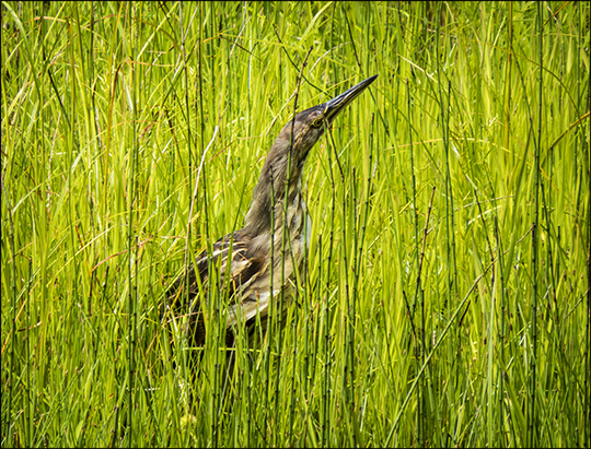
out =
<path fill-rule="evenodd" d="M 268 152 L 243 227 L 217 240 L 211 252 L 199 252 L 188 273 L 172 284 L 170 304 L 188 299 L 185 332 L 192 346 L 205 345 L 208 308 L 201 302 L 207 302 L 208 294 L 201 290 L 207 288 L 212 269 L 219 270 L 219 285 L 228 298 L 228 309 L 217 310 L 213 317 L 225 319 L 222 326 L 228 347 L 234 344 L 240 320 L 251 326 L 258 314 L 258 322 L 265 322 L 269 310 L 278 309 L 279 298 L 283 310 L 293 300 L 292 285 L 312 228 L 302 192 L 305 161 L 335 118 L 376 78 L 368 78 L 325 103 L 294 114 Z"/>

